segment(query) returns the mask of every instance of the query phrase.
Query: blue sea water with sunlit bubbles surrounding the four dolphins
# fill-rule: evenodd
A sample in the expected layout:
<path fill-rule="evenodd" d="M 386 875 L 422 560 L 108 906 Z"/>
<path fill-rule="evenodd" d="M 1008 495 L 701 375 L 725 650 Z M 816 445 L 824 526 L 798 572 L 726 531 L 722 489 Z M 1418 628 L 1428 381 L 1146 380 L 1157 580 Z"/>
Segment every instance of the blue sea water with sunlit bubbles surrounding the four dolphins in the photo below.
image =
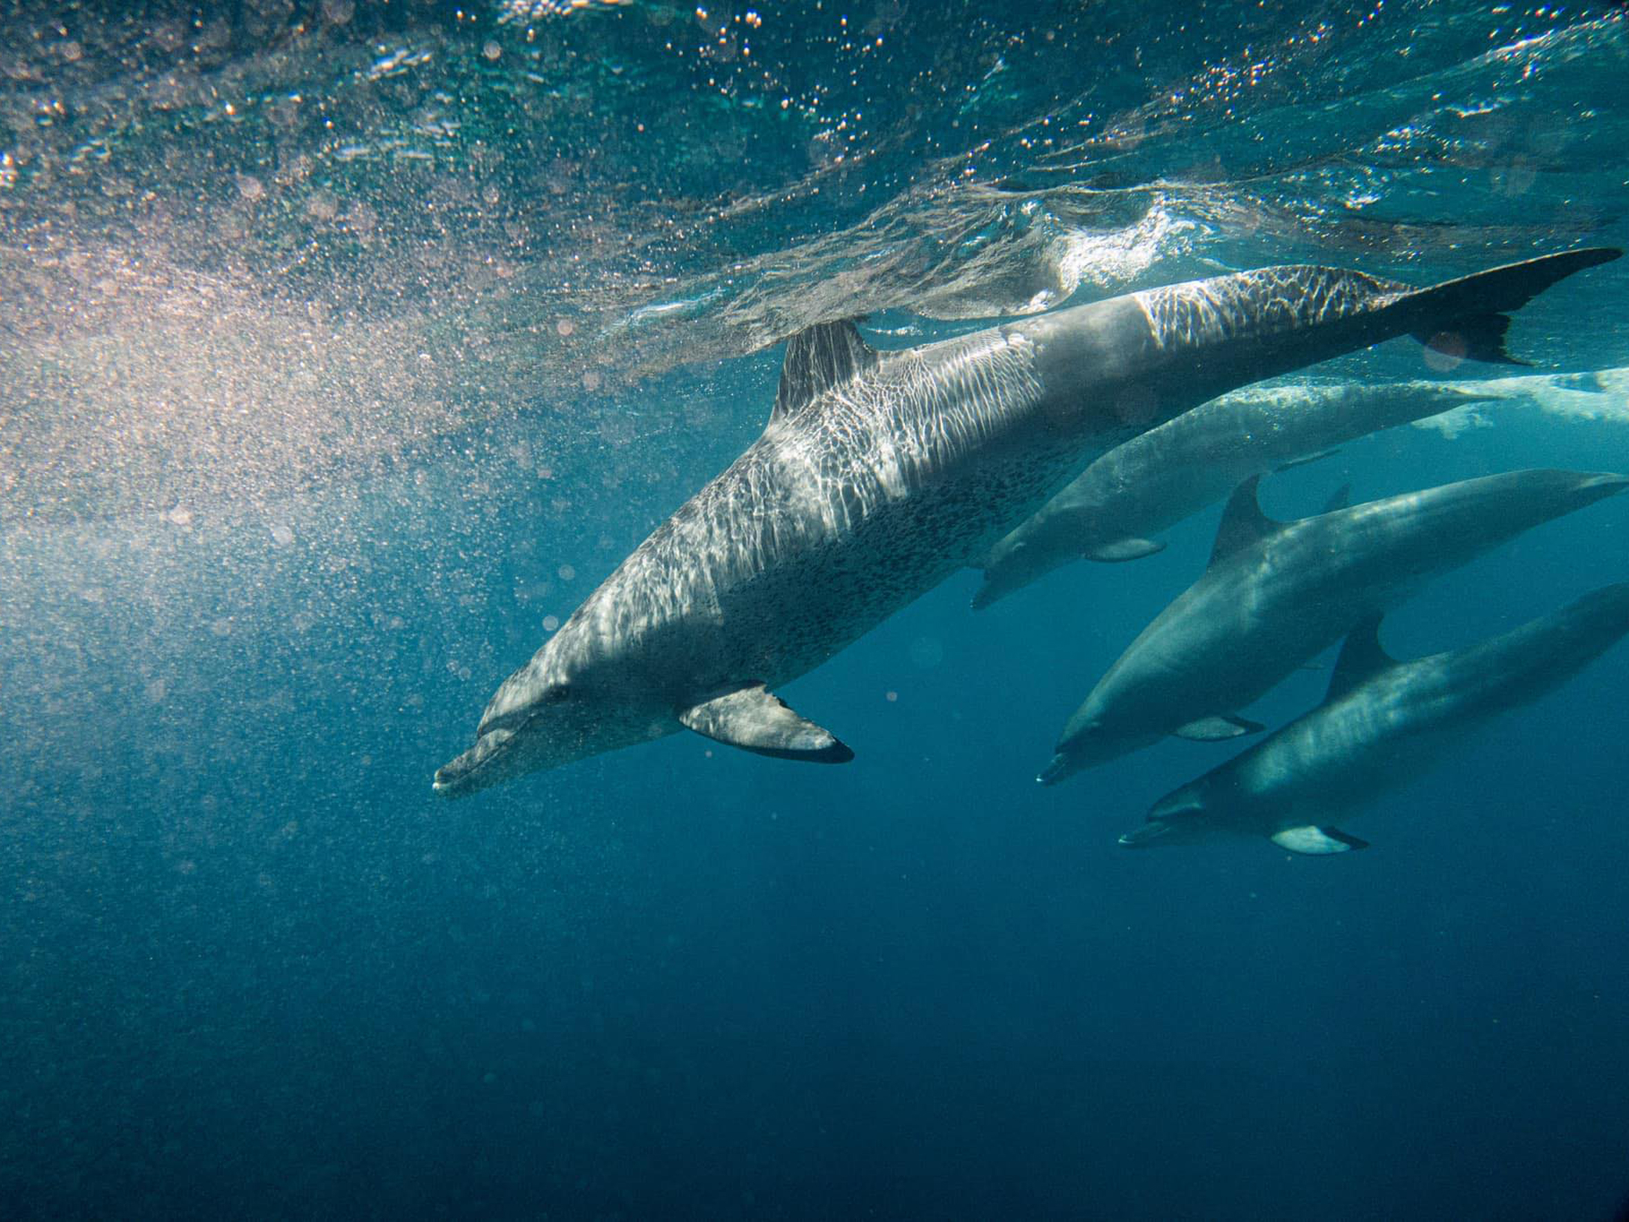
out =
<path fill-rule="evenodd" d="M 1212 508 L 979 614 L 961 574 L 790 684 L 845 767 L 679 735 L 428 780 L 803 324 L 1626 244 L 1619 7 L 546 8 L 0 16 L 0 1214 L 1611 1217 L 1629 648 L 1368 852 L 1126 852 L 1235 746 L 1033 776 Z M 1521 311 L 1517 373 L 1629 365 L 1626 277 Z M 1266 505 L 1629 471 L 1601 385 Z M 1626 577 L 1606 500 L 1386 640 Z"/>

